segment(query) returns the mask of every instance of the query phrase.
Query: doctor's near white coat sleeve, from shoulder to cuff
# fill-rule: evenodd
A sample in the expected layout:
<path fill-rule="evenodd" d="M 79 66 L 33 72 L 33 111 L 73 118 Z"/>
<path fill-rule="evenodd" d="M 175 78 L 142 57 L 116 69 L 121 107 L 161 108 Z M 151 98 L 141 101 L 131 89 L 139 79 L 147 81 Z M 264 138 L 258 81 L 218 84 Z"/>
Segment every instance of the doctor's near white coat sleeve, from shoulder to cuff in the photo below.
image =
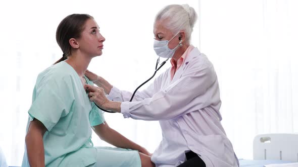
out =
<path fill-rule="evenodd" d="M 168 120 L 199 110 L 212 103 L 217 88 L 217 76 L 212 64 L 190 67 L 181 78 L 152 98 L 139 102 L 122 102 L 124 118 Z"/>

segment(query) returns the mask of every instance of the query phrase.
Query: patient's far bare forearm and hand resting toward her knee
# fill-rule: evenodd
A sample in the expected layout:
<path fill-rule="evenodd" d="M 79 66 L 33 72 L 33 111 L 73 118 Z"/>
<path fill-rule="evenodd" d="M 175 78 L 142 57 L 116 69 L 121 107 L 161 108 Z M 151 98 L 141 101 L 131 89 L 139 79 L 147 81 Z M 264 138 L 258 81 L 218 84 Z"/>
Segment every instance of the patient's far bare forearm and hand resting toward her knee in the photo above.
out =
<path fill-rule="evenodd" d="M 141 147 L 112 129 L 106 121 L 100 125 L 93 126 L 93 128 L 98 137 L 116 147 L 138 150 L 143 154 L 151 156 L 151 153 L 144 147 Z"/>

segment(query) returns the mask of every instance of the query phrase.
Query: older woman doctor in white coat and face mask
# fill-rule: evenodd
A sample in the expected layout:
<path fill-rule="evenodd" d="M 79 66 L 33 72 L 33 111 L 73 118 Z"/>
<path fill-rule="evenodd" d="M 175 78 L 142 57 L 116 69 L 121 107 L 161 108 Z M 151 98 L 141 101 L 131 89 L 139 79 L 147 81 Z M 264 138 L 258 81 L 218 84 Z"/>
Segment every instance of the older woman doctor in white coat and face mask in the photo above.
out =
<path fill-rule="evenodd" d="M 190 45 L 197 14 L 188 5 L 169 5 L 156 16 L 154 49 L 172 67 L 145 90 L 121 91 L 86 71 L 99 87 L 86 85 L 90 101 L 125 118 L 158 120 L 163 138 L 151 160 L 156 166 L 239 166 L 221 125 L 218 79 L 205 54 Z M 107 97 L 106 97 L 107 94 Z"/>

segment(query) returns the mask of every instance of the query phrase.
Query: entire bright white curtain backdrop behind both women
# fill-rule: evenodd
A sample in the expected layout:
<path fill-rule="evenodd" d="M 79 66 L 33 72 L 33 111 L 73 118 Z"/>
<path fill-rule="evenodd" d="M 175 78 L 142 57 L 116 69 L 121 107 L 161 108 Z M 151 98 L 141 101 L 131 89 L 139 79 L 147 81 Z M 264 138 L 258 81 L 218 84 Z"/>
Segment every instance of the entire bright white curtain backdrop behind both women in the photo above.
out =
<path fill-rule="evenodd" d="M 37 74 L 62 56 L 55 32 L 64 17 L 87 13 L 95 18 L 106 41 L 104 54 L 94 58 L 89 69 L 120 89 L 133 91 L 154 72 L 156 13 L 165 5 L 185 3 L 199 15 L 192 44 L 216 68 L 222 124 L 237 156 L 252 158 L 256 134 L 298 132 L 295 0 L 2 1 L 0 147 L 8 164 L 21 164 L 33 87 Z M 151 152 L 161 140 L 156 121 L 109 113 L 105 118 Z M 92 140 L 94 145 L 110 146 L 94 134 Z"/>

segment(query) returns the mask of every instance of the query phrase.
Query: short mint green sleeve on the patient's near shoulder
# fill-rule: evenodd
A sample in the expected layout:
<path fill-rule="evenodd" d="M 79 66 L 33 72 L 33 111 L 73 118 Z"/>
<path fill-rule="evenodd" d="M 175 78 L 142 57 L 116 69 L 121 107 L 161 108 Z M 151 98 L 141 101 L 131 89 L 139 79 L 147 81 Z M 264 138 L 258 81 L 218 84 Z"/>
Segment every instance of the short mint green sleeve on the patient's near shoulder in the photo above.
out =
<path fill-rule="evenodd" d="M 39 120 L 48 131 L 60 118 L 68 115 L 74 102 L 73 82 L 70 76 L 43 77 L 35 85 L 32 105 L 28 111 L 31 120 Z"/>

